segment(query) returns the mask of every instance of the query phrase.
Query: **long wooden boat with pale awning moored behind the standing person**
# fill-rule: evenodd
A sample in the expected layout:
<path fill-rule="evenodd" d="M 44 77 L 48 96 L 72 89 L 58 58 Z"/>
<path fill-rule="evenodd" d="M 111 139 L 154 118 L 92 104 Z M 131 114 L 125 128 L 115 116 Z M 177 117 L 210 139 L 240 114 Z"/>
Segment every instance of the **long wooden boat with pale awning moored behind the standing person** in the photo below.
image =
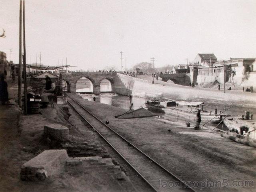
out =
<path fill-rule="evenodd" d="M 174 115 L 183 119 L 196 119 L 198 109 L 200 109 L 202 121 L 210 121 L 211 123 L 220 123 L 224 115 L 212 114 L 204 110 L 204 102 L 188 102 L 188 101 L 153 101 L 149 100 L 145 103 L 149 111 L 154 113 L 164 113 Z M 226 115 L 225 115 L 226 116 Z M 227 115 L 230 116 L 230 115 Z"/>

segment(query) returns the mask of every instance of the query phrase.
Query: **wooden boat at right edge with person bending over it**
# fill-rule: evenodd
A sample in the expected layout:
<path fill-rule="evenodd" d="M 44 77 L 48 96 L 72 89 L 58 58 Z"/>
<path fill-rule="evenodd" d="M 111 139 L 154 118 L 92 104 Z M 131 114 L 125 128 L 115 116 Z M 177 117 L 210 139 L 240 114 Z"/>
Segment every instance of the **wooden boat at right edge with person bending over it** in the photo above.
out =
<path fill-rule="evenodd" d="M 242 120 L 241 117 L 227 117 L 224 119 L 224 124 L 228 127 L 229 130 L 235 129 L 241 135 L 240 127 L 246 126 L 248 127 L 248 133 L 244 133 L 248 135 L 248 137 L 252 139 L 256 139 L 256 120 Z"/>

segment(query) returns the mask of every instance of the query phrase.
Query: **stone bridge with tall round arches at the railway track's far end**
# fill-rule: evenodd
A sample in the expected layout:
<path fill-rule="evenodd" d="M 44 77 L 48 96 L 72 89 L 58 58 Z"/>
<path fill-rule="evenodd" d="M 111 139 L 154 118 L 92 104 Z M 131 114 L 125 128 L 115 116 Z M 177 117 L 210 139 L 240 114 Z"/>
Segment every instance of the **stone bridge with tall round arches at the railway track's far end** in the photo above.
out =
<path fill-rule="evenodd" d="M 111 83 L 111 91 L 114 92 L 114 78 L 115 72 L 72 72 L 62 73 L 62 79 L 66 81 L 68 92 L 76 93 L 76 82 L 86 77 L 92 82 L 92 89 L 94 94 L 100 94 L 100 83 L 103 79 L 107 79 Z"/>

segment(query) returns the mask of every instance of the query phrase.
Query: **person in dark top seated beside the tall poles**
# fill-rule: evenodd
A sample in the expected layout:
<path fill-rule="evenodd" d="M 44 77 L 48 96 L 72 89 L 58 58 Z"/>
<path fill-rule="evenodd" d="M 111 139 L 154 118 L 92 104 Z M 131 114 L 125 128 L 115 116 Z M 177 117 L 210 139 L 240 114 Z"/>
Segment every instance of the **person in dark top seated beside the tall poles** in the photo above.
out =
<path fill-rule="evenodd" d="M 49 103 L 49 99 L 48 99 L 48 96 L 50 96 L 50 95 L 54 95 L 54 93 L 55 93 L 55 87 L 56 87 L 56 85 L 55 85 L 55 83 L 53 83 L 52 81 L 51 81 L 51 79 L 50 79 L 50 77 L 45 77 L 45 81 L 46 81 L 46 83 L 45 83 L 45 88 L 44 88 L 44 90 L 43 90 L 43 94 L 42 94 L 42 106 L 41 106 L 41 108 L 46 108 L 47 107 L 47 105 L 48 105 L 48 103 Z"/>

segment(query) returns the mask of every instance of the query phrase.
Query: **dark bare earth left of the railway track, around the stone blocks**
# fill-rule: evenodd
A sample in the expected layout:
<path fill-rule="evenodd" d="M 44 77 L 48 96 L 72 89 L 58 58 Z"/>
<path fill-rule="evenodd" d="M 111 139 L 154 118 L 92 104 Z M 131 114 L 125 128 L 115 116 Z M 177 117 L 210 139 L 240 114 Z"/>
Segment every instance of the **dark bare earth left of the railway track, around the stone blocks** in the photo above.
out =
<path fill-rule="evenodd" d="M 9 84 L 9 95 L 16 95 L 17 89 Z M 116 180 L 111 174 L 101 175 L 97 171 L 79 171 L 76 174 L 63 173 L 52 176 L 44 181 L 30 182 L 20 180 L 20 167 L 22 164 L 35 157 L 37 154 L 49 149 L 42 138 L 44 125 L 60 123 L 70 129 L 70 139 L 74 141 L 95 142 L 95 137 L 90 137 L 92 131 L 87 129 L 83 133 L 78 130 L 85 125 L 76 126 L 80 120 L 66 121 L 60 107 L 41 110 L 42 115 L 24 116 L 15 105 L 0 105 L 0 192 L 84 192 L 84 191 L 131 191 L 130 182 Z M 84 137 L 84 136 L 89 137 Z M 134 174 L 135 175 L 135 174 Z M 138 176 L 137 176 L 138 177 Z M 136 175 L 135 175 L 136 178 Z M 139 180 L 138 182 L 142 182 Z M 144 184 L 139 187 L 147 189 Z M 149 190 L 145 190 L 149 191 Z"/>

